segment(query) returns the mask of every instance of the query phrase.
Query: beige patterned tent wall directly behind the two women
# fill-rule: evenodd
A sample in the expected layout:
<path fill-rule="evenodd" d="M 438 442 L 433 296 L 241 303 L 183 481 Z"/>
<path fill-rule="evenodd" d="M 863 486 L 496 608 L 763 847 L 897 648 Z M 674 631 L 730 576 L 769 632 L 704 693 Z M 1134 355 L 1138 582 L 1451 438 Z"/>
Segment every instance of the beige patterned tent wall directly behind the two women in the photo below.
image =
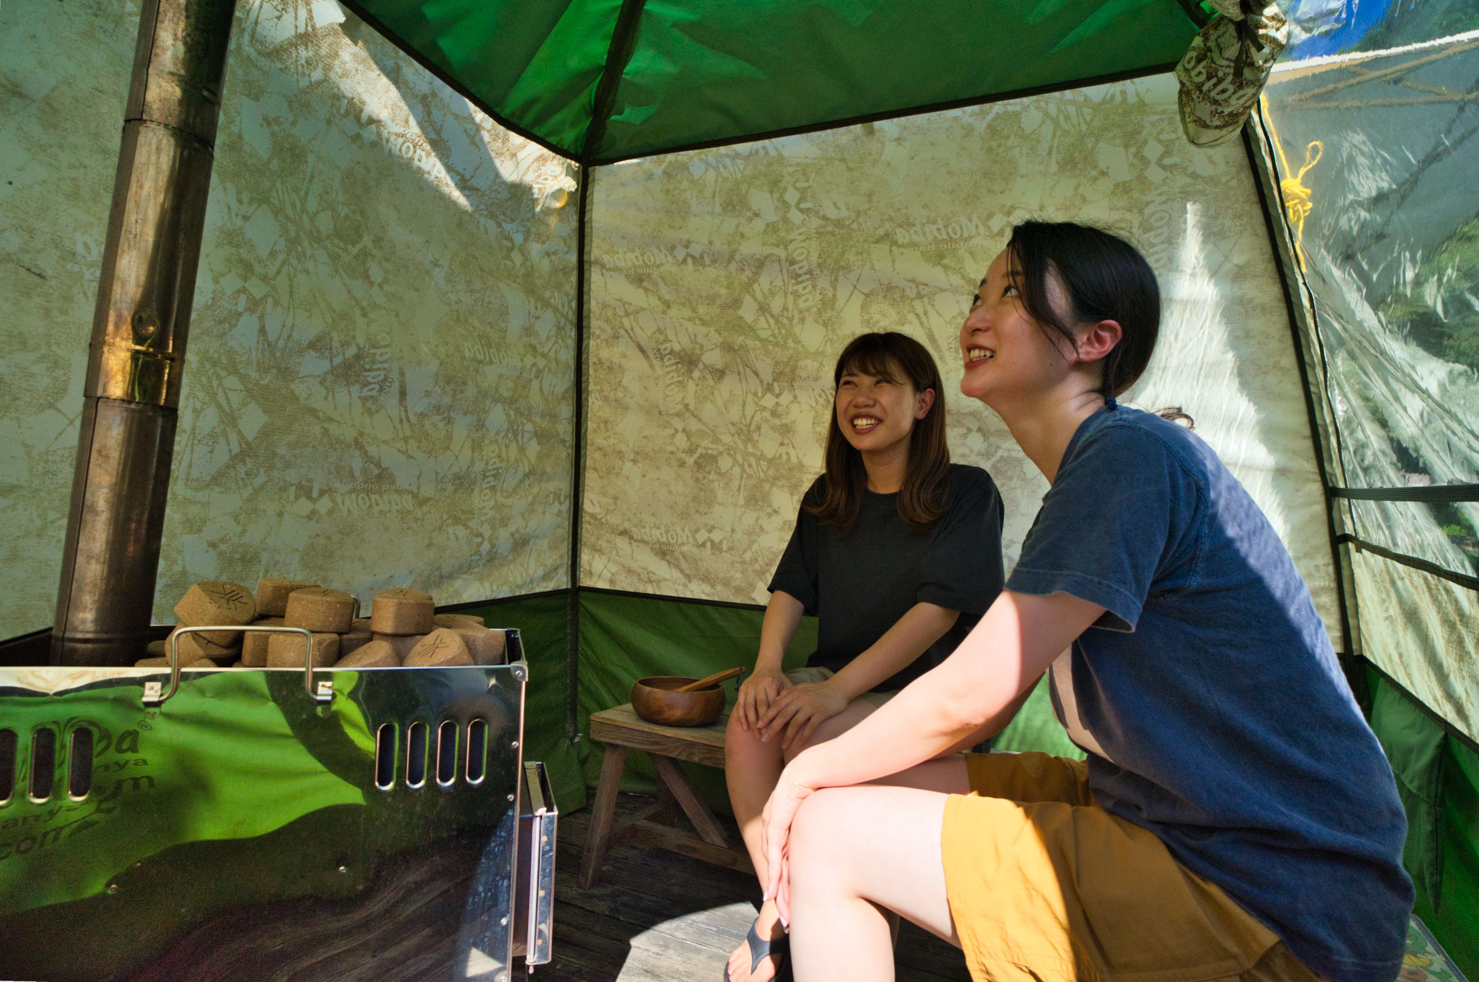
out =
<path fill-rule="evenodd" d="M 732 602 L 765 584 L 821 469 L 846 340 L 941 362 L 954 458 L 985 466 L 1015 561 L 1046 491 L 958 395 L 967 297 L 1012 222 L 1140 244 L 1167 297 L 1130 399 L 1176 404 L 1288 543 L 1338 636 L 1304 396 L 1238 143 L 1183 142 L 1170 75 L 603 167 L 595 175 L 581 583 Z"/>

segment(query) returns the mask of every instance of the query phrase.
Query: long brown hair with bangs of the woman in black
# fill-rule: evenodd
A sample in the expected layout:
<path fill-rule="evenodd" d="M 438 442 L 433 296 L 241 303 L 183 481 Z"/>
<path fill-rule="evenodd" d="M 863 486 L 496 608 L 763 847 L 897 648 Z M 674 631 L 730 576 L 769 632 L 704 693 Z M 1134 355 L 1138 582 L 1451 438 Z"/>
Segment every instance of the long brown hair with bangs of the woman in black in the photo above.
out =
<path fill-rule="evenodd" d="M 827 426 L 827 494 L 819 504 L 805 506 L 822 525 L 850 535 L 862 512 L 868 472 L 862 454 L 847 442 L 837 424 L 837 386 L 845 374 L 864 374 L 892 382 L 908 382 L 916 392 L 935 390 L 935 404 L 910 432 L 910 456 L 899 488 L 899 521 L 920 532 L 945 516 L 945 475 L 950 472 L 950 445 L 945 442 L 945 389 L 939 368 L 929 351 L 898 331 L 859 334 L 847 342 L 833 371 L 831 423 Z M 899 379 L 899 376 L 904 376 Z"/>

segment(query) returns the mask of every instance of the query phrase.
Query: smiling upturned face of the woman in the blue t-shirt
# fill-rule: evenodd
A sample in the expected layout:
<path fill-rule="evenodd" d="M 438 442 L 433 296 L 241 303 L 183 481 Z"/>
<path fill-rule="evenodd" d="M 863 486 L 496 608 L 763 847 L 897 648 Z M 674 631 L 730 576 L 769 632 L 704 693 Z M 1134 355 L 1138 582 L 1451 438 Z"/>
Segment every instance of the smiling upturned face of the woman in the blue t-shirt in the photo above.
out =
<path fill-rule="evenodd" d="M 960 352 L 966 362 L 960 390 L 991 407 L 1016 395 L 1052 389 L 1069 370 L 1066 355 L 1071 351 L 1059 348 L 1022 306 L 1019 275 L 1003 250 L 986 269 L 960 325 Z M 1052 277 L 1049 291 L 1055 302 L 1066 300 Z"/>

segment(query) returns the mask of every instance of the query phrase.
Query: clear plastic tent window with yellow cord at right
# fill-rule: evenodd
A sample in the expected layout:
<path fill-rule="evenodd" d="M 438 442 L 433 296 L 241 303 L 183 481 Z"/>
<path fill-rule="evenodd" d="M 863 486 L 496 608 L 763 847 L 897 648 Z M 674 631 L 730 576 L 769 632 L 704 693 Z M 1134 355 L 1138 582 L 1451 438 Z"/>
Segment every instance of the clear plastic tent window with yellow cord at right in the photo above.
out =
<path fill-rule="evenodd" d="M 1344 484 L 1373 495 L 1347 501 L 1349 534 L 1389 553 L 1368 550 L 1353 565 L 1364 654 L 1470 736 L 1479 735 L 1476 84 L 1479 31 L 1470 31 L 1285 62 L 1266 90 Z"/>

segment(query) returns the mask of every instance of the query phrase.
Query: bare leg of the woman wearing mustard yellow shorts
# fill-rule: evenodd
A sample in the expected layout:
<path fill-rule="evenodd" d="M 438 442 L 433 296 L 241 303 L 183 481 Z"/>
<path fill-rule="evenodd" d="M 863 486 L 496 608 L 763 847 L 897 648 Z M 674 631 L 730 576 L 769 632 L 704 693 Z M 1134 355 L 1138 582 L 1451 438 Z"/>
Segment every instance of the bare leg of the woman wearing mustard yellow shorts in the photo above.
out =
<path fill-rule="evenodd" d="M 913 776 L 950 782 L 954 766 L 930 762 Z M 954 776 L 963 776 L 958 768 Z M 945 800 L 939 791 L 861 785 L 822 788 L 802 803 L 788 846 L 796 978 L 893 979 L 886 911 L 960 945 L 941 861 Z"/>

